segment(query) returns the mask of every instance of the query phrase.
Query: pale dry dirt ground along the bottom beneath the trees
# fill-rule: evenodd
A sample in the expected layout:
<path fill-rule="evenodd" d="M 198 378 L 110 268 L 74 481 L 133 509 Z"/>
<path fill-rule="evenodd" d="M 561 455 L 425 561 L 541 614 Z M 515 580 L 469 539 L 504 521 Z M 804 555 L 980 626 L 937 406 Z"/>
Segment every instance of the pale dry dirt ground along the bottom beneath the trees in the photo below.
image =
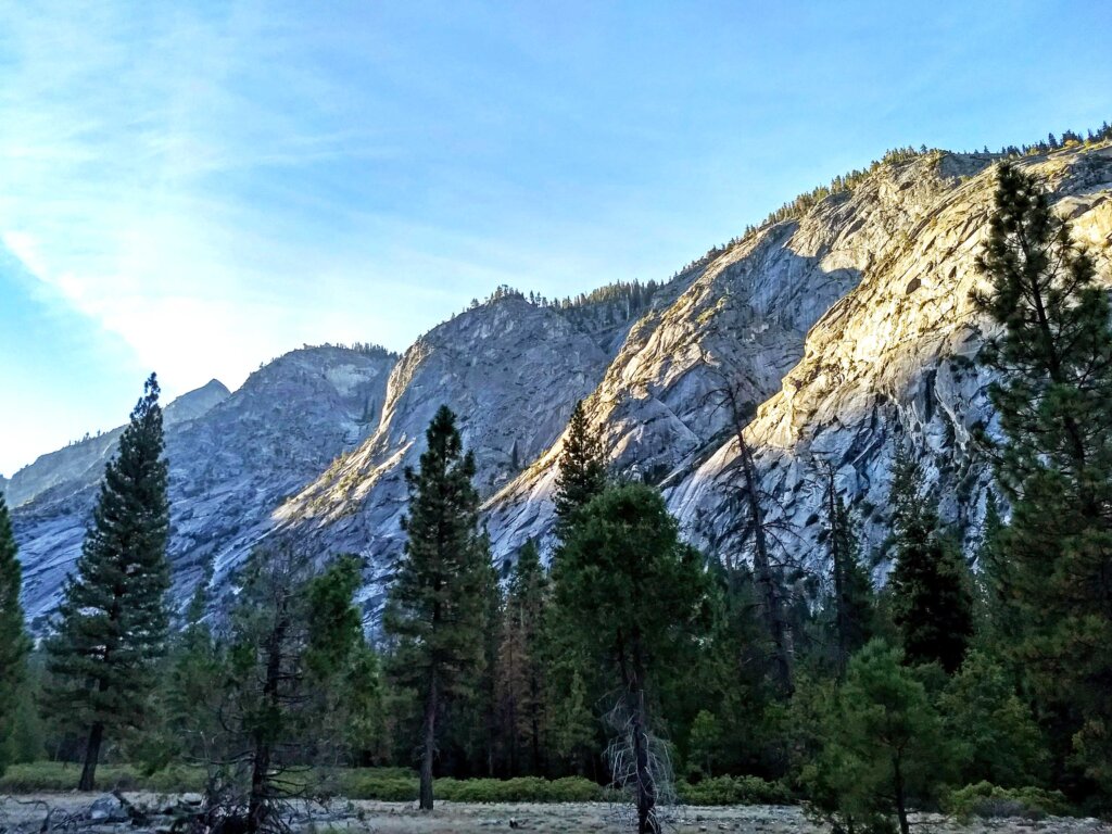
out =
<path fill-rule="evenodd" d="M 132 803 L 160 807 L 177 797 L 151 794 L 125 794 Z M 0 832 L 38 834 L 49 812 L 58 822 L 80 821 L 97 800 L 93 794 L 37 794 L 0 797 Z M 969 825 L 923 815 L 915 818 L 916 834 L 1112 834 L 1112 826 L 1095 820 L 1048 818 L 985 820 Z M 153 825 L 151 831 L 159 826 Z M 632 831 L 628 810 L 602 803 L 559 805 L 438 803 L 431 813 L 416 811 L 409 803 L 337 801 L 317 808 L 295 824 L 295 828 L 317 834 L 492 834 L 493 831 L 532 831 L 545 834 L 588 834 L 588 832 Z M 128 823 L 78 822 L 54 828 L 88 834 L 135 834 Z M 817 834 L 827 831 L 806 820 L 802 810 L 786 806 L 681 807 L 675 808 L 667 826 L 671 832 L 732 831 L 746 834 Z"/>

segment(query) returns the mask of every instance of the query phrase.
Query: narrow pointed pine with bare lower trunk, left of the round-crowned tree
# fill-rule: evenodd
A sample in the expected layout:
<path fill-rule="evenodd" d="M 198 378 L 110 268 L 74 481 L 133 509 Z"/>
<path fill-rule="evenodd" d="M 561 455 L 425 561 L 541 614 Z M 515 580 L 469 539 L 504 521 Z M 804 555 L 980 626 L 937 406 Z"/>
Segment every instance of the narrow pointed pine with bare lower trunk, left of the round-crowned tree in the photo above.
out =
<path fill-rule="evenodd" d="M 490 559 L 478 529 L 475 459 L 464 451 L 447 406 L 436 413 L 426 440 L 420 468 L 406 471 L 408 540 L 384 625 L 397 642 L 394 675 L 423 703 L 420 807 L 431 811 L 437 719 L 445 702 L 466 693 L 467 673 L 483 663 L 481 592 Z"/>

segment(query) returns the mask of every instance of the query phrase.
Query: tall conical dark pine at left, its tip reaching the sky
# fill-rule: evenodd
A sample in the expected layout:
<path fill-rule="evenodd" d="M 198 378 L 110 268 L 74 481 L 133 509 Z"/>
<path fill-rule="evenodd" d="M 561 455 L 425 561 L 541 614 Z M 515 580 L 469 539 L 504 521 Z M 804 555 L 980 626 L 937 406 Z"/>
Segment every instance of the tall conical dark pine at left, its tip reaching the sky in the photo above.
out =
<path fill-rule="evenodd" d="M 153 374 L 105 469 L 77 572 L 47 643 L 50 711 L 88 733 L 78 788 L 91 791 L 106 734 L 142 723 L 165 651 L 170 572 L 162 410 Z"/>

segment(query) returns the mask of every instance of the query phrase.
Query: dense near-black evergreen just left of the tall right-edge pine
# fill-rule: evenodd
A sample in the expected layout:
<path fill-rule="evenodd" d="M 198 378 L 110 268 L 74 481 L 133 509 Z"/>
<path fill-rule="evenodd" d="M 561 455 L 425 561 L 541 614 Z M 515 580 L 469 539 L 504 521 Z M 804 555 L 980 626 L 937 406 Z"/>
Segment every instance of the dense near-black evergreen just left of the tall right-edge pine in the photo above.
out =
<path fill-rule="evenodd" d="M 961 553 L 942 534 L 923 495 L 917 464 L 895 461 L 892 527 L 896 563 L 888 588 L 907 663 L 937 662 L 947 673 L 962 664 L 973 635 L 973 596 Z"/>

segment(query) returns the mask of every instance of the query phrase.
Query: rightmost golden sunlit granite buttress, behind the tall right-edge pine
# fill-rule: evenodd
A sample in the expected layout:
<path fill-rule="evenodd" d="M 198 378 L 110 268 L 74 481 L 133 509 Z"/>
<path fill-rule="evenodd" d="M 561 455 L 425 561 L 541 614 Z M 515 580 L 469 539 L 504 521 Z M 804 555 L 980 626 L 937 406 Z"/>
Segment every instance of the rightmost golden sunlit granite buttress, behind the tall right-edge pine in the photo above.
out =
<path fill-rule="evenodd" d="M 783 549 L 796 563 L 824 556 L 817 534 L 827 466 L 876 552 L 888 532 L 890 474 L 901 448 L 923 463 L 943 520 L 967 545 L 980 535 L 992 479 L 972 429 L 994 429 L 990 375 L 970 361 L 985 327 L 970 300 L 994 190 L 984 161 L 939 159 L 949 187 L 913 225 L 894 230 L 861 284 L 812 328 L 803 359 L 746 429 L 766 512 L 788 532 Z M 1058 210 L 1112 281 L 1112 150 L 1022 165 L 1050 183 Z M 726 496 L 737 463 L 736 443 L 726 441 L 676 473 L 667 490 L 673 512 L 712 549 L 736 547 Z"/>

